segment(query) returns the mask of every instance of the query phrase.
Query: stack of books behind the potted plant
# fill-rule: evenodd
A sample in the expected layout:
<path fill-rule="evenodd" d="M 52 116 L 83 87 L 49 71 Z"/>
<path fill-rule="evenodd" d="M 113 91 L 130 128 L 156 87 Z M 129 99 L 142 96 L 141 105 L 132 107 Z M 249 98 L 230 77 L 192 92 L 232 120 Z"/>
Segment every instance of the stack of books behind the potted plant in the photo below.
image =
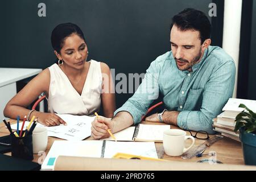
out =
<path fill-rule="evenodd" d="M 225 137 L 240 141 L 239 131 L 234 132 L 236 126 L 236 116 L 244 109 L 238 107 L 240 104 L 246 105 L 249 109 L 256 111 L 256 101 L 243 100 L 240 98 L 229 98 L 228 102 L 222 109 L 222 113 L 213 119 L 213 130 L 218 131 Z"/>

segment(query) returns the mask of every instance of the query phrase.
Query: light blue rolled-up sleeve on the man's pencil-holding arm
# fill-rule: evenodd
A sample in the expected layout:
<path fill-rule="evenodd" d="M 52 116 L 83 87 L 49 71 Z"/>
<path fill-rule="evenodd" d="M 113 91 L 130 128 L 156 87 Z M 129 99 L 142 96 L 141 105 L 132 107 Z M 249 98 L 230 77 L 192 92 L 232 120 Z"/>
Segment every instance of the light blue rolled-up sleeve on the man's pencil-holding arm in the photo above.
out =
<path fill-rule="evenodd" d="M 150 104 L 159 96 L 159 66 L 157 60 L 150 64 L 141 85 L 139 85 L 134 95 L 122 107 L 117 109 L 114 115 L 120 111 L 127 111 L 133 116 L 134 124 L 141 122 Z"/>

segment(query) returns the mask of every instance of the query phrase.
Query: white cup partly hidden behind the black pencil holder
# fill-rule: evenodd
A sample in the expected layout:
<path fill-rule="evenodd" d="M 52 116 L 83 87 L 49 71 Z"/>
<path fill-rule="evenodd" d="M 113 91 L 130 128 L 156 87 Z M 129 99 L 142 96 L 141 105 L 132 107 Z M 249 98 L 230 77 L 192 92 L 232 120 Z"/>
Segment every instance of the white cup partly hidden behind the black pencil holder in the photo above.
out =
<path fill-rule="evenodd" d="M 46 151 L 48 136 L 45 127 L 35 127 L 32 133 L 33 153 L 38 154 L 40 151 Z"/>

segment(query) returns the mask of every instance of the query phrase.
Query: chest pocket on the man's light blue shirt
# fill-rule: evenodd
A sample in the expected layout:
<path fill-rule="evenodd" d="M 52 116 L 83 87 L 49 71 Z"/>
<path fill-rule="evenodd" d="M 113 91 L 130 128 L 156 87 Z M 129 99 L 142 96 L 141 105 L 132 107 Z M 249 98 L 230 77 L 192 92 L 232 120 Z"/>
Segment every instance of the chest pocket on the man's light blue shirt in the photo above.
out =
<path fill-rule="evenodd" d="M 203 101 L 203 88 L 189 89 L 183 110 L 200 110 Z"/>

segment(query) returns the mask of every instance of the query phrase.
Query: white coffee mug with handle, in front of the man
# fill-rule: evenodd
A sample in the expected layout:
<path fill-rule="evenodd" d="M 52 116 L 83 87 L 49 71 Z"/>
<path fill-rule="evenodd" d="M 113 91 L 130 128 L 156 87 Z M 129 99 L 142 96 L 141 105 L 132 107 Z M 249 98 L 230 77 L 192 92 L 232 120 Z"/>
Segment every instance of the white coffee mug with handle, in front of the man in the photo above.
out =
<path fill-rule="evenodd" d="M 163 133 L 163 147 L 164 152 L 170 156 L 180 156 L 195 143 L 195 138 L 192 136 L 186 136 L 187 133 L 179 129 L 168 129 Z M 192 144 L 188 148 L 185 148 L 185 140 L 192 139 Z"/>

